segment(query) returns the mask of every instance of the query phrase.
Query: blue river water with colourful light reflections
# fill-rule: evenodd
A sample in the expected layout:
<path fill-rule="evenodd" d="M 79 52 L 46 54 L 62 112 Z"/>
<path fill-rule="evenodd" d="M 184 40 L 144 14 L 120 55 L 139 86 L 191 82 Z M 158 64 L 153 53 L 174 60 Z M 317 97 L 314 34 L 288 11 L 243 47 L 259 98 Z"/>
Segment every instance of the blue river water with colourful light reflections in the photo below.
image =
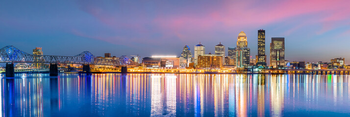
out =
<path fill-rule="evenodd" d="M 0 109 L 4 117 L 350 117 L 349 80 L 348 75 L 2 75 Z"/>

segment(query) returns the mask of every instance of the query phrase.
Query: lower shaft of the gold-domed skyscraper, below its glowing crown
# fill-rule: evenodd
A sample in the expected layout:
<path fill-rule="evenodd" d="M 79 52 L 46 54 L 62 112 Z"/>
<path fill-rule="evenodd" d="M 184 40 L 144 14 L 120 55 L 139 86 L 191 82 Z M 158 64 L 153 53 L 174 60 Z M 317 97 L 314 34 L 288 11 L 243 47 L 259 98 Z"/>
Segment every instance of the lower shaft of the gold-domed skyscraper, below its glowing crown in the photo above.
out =
<path fill-rule="evenodd" d="M 250 48 L 241 48 L 236 51 L 236 66 L 245 67 L 250 63 Z"/>

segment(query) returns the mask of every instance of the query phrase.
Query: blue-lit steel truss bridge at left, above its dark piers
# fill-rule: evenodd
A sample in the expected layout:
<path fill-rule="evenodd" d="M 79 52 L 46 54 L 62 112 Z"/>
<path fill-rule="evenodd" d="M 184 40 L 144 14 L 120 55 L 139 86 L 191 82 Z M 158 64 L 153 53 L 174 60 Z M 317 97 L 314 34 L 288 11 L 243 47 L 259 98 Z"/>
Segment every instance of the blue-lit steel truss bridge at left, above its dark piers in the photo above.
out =
<path fill-rule="evenodd" d="M 113 66 L 134 66 L 136 62 L 122 56 L 119 59 L 96 58 L 89 51 L 82 52 L 74 57 L 31 55 L 14 46 L 6 46 L 0 49 L 0 63 L 25 62 L 25 63 L 59 63 L 59 64 L 95 64 Z"/>

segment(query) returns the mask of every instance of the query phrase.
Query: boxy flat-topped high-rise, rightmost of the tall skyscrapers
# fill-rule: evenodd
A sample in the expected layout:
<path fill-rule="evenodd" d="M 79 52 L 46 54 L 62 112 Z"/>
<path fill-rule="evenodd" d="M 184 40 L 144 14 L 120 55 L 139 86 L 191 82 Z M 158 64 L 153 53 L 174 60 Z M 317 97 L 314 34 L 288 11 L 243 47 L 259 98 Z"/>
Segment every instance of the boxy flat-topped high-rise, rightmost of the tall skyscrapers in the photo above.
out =
<path fill-rule="evenodd" d="M 284 67 L 284 38 L 271 38 L 270 43 L 270 66 Z"/>

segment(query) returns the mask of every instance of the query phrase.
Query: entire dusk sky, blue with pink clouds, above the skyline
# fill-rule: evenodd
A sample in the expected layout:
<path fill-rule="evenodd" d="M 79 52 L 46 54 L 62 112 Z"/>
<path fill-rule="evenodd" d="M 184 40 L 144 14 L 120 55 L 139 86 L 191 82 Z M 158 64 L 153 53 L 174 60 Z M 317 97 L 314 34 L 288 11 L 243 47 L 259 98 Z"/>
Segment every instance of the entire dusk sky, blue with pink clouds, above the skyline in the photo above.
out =
<path fill-rule="evenodd" d="M 95 56 L 177 55 L 199 42 L 214 53 L 247 34 L 257 55 L 257 31 L 285 38 L 285 59 L 350 64 L 350 0 L 36 0 L 0 1 L 0 48 L 27 53 Z M 131 58 L 129 56 L 129 58 Z"/>

